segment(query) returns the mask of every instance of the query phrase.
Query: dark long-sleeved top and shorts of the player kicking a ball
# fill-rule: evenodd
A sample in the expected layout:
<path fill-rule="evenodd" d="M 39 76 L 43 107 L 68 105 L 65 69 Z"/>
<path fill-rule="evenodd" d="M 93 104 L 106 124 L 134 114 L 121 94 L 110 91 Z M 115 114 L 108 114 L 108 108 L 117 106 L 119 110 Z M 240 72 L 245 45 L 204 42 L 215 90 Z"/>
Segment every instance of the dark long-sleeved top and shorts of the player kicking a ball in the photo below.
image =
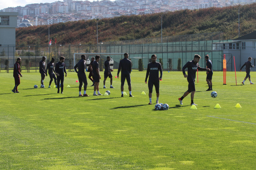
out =
<path fill-rule="evenodd" d="M 185 69 L 188 68 L 188 77 L 187 77 L 187 80 L 188 80 L 188 92 L 193 92 L 193 91 L 196 91 L 196 88 L 195 88 L 195 80 L 196 80 L 196 71 L 197 69 L 200 70 L 200 71 L 203 71 L 203 70 L 206 70 L 206 68 L 201 68 L 199 66 L 198 63 L 194 62 L 193 60 L 192 61 L 188 61 L 183 67 L 182 67 L 182 72 L 183 72 L 183 75 L 186 74 L 185 73 Z"/>

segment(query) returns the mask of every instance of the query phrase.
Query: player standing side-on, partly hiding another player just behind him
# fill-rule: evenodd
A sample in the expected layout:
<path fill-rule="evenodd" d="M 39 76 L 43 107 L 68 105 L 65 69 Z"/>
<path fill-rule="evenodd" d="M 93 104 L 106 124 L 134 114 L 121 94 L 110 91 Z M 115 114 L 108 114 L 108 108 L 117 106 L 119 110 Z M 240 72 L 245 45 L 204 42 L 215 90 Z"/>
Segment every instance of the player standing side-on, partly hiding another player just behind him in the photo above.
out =
<path fill-rule="evenodd" d="M 101 76 L 99 75 L 99 55 L 95 56 L 95 61 L 93 62 L 93 80 L 94 80 L 94 92 L 93 92 L 93 96 L 99 96 L 102 95 L 101 93 L 99 93 L 99 79 L 101 79 Z M 96 94 L 96 90 L 98 91 L 98 94 Z"/>

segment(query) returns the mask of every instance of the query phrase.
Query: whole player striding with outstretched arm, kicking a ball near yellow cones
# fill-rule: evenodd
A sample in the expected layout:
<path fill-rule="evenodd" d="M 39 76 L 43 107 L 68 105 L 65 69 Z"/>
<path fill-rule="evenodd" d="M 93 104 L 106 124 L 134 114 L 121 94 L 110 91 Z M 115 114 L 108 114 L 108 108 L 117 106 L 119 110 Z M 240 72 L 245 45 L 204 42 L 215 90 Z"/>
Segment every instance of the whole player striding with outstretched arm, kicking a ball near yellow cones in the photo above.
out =
<path fill-rule="evenodd" d="M 189 93 L 191 93 L 191 104 L 190 105 L 197 105 L 194 103 L 194 94 L 196 91 L 195 88 L 195 79 L 196 79 L 196 70 L 208 70 L 209 72 L 211 71 L 209 68 L 201 68 L 199 67 L 198 62 L 200 61 L 200 55 L 196 54 L 194 56 L 194 59 L 192 61 L 188 61 L 183 67 L 182 67 L 182 72 L 184 77 L 187 77 L 188 80 L 188 90 L 183 94 L 181 98 L 179 98 L 180 104 L 182 104 L 183 98 L 188 96 Z M 185 73 L 185 69 L 188 68 L 188 75 Z"/>

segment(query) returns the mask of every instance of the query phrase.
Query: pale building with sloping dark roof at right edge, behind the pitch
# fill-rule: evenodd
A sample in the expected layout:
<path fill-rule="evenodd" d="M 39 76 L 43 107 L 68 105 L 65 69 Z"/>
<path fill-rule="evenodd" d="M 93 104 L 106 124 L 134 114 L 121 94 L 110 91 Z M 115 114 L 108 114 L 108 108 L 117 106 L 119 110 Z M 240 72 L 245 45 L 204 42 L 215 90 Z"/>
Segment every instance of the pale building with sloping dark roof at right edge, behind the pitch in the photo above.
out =
<path fill-rule="evenodd" d="M 256 66 L 256 31 L 228 42 L 213 43 L 212 48 L 212 50 L 223 50 L 227 60 L 227 71 L 235 70 L 234 56 L 237 71 L 248 61 L 248 57 L 252 57 L 252 65 Z M 252 67 L 251 71 L 256 71 L 256 67 Z"/>

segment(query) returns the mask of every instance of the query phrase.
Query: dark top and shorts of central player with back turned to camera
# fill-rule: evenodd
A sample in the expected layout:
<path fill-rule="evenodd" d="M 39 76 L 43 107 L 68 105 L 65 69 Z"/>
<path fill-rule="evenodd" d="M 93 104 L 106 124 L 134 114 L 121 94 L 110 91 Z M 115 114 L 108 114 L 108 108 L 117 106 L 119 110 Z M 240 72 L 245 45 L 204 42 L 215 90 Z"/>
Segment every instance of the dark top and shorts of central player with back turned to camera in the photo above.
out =
<path fill-rule="evenodd" d="M 119 75 L 120 70 L 121 70 L 121 86 L 124 86 L 125 78 L 128 86 L 131 86 L 130 74 L 132 71 L 132 62 L 128 58 L 124 58 L 120 60 L 117 75 Z"/>

